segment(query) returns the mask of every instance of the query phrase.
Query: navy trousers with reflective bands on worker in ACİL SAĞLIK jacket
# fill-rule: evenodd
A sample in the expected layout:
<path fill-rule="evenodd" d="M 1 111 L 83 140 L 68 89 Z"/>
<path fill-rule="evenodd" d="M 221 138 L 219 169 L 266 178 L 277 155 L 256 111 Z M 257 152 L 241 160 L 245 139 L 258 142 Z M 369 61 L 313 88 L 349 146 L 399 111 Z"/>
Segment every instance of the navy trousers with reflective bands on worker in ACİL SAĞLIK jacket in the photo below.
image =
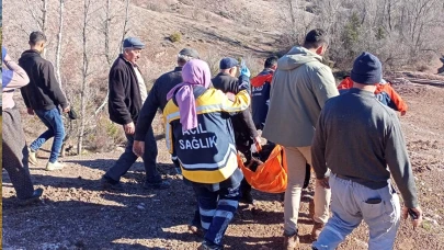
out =
<path fill-rule="evenodd" d="M 206 230 L 205 241 L 221 246 L 228 224 L 239 205 L 239 184 L 213 192 L 205 185 L 193 183 L 193 189 L 198 202 L 201 225 Z"/>

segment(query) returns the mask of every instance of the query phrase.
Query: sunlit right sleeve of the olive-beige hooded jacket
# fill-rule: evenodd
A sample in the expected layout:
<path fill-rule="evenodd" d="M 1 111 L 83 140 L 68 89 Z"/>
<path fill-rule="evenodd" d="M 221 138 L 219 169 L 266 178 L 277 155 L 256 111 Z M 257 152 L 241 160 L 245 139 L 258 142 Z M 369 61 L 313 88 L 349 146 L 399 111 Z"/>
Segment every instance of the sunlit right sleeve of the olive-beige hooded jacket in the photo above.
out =
<path fill-rule="evenodd" d="M 319 106 L 322 109 L 327 100 L 339 95 L 333 73 L 328 66 L 320 67 L 311 75 L 312 91 Z"/>

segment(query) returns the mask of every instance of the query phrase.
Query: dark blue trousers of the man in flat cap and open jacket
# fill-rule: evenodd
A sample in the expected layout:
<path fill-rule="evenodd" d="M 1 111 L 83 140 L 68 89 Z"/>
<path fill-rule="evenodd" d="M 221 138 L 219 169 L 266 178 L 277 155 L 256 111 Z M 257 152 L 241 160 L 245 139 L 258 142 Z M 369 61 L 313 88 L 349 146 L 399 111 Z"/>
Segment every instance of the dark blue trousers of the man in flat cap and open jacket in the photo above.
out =
<path fill-rule="evenodd" d="M 105 175 L 114 181 L 121 181 L 121 177 L 124 175 L 129 168 L 136 162 L 137 156 L 133 152 L 134 136 L 126 135 L 126 147 L 124 154 L 118 158 L 114 166 L 107 170 Z M 157 160 L 157 144 L 152 127 L 148 129 L 145 137 L 145 152 L 141 159 L 144 160 L 145 171 L 147 173 L 147 182 L 159 183 L 162 181 L 156 166 Z"/>

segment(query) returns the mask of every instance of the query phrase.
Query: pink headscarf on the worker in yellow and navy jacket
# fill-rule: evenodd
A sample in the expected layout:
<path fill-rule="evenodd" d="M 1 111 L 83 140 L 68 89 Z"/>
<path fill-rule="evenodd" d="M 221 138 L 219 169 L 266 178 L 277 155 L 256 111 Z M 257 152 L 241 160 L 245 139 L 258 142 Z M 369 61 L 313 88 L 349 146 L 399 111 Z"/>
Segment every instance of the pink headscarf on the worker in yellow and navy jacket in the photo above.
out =
<path fill-rule="evenodd" d="M 179 105 L 182 129 L 187 130 L 197 127 L 196 102 L 193 94 L 193 86 L 202 86 L 205 89 L 209 88 L 212 73 L 208 65 L 200 59 L 189 60 L 182 68 L 183 82 L 175 86 L 167 94 L 167 100 L 170 100 L 175 90 L 175 101 Z"/>

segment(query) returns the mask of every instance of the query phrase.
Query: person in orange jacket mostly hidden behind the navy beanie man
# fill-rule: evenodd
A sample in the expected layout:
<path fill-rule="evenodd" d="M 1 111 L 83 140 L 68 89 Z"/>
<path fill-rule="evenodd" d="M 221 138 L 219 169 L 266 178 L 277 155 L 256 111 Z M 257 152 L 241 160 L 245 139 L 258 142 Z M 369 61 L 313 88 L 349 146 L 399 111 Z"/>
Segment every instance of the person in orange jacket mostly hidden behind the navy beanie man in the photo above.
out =
<path fill-rule="evenodd" d="M 345 77 L 338 86 L 338 90 L 340 93 L 351 88 L 353 88 L 353 81 L 352 79 L 350 79 L 350 77 Z M 407 103 L 395 91 L 395 89 L 391 88 L 391 82 L 387 82 L 383 79 L 382 82 L 376 86 L 375 95 L 382 103 L 386 104 L 395 111 L 399 111 L 401 113 L 401 116 L 407 113 Z"/>

